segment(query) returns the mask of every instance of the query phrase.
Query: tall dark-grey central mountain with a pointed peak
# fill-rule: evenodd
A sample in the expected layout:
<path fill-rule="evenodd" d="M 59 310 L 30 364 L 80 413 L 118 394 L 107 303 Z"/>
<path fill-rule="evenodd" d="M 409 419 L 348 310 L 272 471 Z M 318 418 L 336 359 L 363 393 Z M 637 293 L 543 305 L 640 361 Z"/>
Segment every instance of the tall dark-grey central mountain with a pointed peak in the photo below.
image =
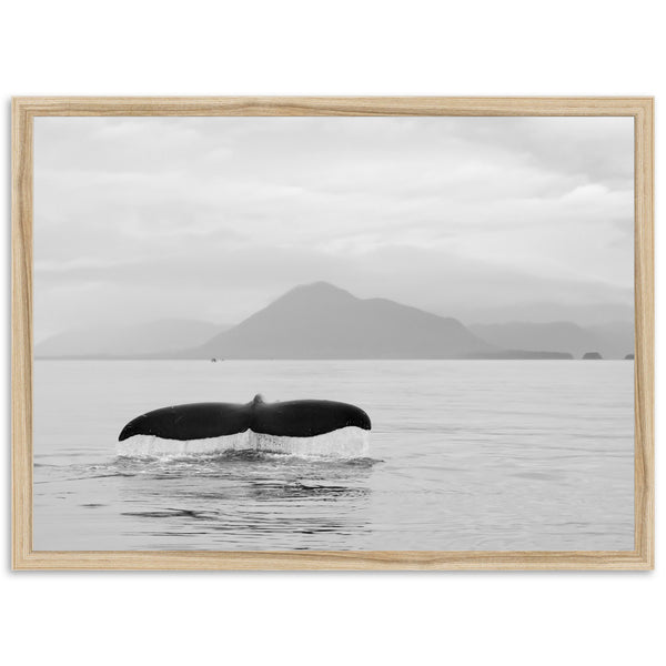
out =
<path fill-rule="evenodd" d="M 457 320 L 316 282 L 181 357 L 457 359 L 493 351 Z"/>

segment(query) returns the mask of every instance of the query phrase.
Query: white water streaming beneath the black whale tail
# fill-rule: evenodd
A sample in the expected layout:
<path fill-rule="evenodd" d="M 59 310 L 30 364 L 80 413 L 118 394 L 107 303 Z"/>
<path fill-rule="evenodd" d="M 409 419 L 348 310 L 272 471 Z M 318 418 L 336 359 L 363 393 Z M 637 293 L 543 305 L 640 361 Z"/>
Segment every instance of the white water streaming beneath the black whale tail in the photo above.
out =
<path fill-rule="evenodd" d="M 314 437 L 279 437 L 245 431 L 205 440 L 167 440 L 154 435 L 134 435 L 118 442 L 117 453 L 124 456 L 165 456 L 215 454 L 225 451 L 264 451 L 290 455 L 326 457 L 366 457 L 370 431 L 347 426 Z"/>

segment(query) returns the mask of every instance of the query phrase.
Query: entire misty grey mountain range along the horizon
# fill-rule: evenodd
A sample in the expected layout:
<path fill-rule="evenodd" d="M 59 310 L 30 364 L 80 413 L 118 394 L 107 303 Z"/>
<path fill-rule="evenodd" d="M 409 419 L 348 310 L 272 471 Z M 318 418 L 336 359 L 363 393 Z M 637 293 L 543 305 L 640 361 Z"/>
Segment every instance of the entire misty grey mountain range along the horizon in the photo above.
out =
<path fill-rule="evenodd" d="M 325 282 L 301 285 L 235 326 L 162 320 L 60 333 L 36 346 L 50 359 L 579 359 L 634 351 L 630 322 L 463 325 Z"/>

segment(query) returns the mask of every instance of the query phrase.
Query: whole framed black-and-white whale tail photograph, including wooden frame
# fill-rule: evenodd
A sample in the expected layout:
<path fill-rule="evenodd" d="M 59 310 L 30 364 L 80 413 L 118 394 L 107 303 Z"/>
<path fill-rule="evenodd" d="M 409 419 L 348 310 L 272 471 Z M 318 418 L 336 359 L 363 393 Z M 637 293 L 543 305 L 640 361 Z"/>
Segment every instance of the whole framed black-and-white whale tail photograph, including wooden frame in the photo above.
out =
<path fill-rule="evenodd" d="M 18 98 L 17 569 L 648 569 L 650 98 Z"/>

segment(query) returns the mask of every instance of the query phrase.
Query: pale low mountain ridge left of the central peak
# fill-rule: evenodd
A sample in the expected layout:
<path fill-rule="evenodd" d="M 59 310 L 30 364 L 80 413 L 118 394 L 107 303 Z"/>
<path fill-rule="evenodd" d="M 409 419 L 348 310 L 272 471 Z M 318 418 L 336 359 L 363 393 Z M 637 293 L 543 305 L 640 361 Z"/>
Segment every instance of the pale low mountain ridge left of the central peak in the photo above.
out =
<path fill-rule="evenodd" d="M 39 357 L 134 356 L 173 352 L 210 340 L 223 326 L 192 320 L 159 320 L 133 326 L 95 326 L 53 335 L 34 347 Z"/>

